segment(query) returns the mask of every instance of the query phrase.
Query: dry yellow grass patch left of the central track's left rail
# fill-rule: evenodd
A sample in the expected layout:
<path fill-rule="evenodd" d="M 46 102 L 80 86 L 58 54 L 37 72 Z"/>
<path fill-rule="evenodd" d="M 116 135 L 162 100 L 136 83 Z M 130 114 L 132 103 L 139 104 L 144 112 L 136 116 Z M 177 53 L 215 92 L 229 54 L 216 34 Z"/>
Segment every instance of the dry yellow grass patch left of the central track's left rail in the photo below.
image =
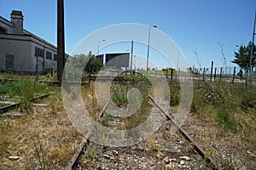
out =
<path fill-rule="evenodd" d="M 0 117 L 0 169 L 62 169 L 73 156 L 81 136 L 69 122 L 61 91 L 31 106 L 26 116 Z M 19 156 L 11 160 L 9 156 Z"/>

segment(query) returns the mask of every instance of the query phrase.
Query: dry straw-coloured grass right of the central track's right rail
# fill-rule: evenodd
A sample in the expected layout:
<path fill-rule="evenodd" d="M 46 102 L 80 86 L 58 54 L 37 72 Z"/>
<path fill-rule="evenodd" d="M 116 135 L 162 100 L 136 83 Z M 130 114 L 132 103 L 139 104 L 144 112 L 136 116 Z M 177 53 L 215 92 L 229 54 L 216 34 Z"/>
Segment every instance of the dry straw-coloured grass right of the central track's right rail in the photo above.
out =
<path fill-rule="evenodd" d="M 214 122 L 214 113 L 207 115 L 189 114 L 184 129 L 212 156 L 224 169 L 253 169 L 256 162 L 256 120 L 255 112 L 236 113 L 239 128 L 227 131 Z"/>

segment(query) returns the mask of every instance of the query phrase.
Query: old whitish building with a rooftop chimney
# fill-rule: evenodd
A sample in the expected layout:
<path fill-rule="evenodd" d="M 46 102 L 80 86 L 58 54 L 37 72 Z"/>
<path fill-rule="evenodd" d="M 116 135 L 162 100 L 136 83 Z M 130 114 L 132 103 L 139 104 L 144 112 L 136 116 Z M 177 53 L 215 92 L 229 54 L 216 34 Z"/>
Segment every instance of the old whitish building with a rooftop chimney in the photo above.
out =
<path fill-rule="evenodd" d="M 21 11 L 13 10 L 10 21 L 0 16 L 0 71 L 47 72 L 57 66 L 57 48 L 23 29 Z M 37 62 L 38 60 L 38 62 Z"/>

